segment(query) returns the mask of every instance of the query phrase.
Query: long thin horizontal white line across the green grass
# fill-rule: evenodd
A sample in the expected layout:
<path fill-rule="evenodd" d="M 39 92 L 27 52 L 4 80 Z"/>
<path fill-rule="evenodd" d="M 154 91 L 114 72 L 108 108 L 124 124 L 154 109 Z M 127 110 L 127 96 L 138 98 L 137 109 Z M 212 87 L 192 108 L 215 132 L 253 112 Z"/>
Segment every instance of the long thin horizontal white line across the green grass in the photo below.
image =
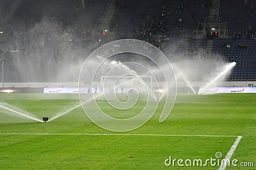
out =
<path fill-rule="evenodd" d="M 190 136 L 190 137 L 226 137 L 239 138 L 233 135 L 202 135 L 202 134 L 83 134 L 83 133 L 0 133 L 0 135 L 84 135 L 84 136 Z M 242 137 L 241 137 L 242 138 Z"/>

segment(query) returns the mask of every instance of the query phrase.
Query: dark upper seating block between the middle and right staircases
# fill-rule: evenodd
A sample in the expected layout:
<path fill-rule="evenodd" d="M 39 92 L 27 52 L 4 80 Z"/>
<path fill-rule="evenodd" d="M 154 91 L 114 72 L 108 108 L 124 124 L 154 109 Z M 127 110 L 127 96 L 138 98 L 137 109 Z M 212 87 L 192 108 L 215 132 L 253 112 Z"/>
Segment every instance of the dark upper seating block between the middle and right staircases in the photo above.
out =
<path fill-rule="evenodd" d="M 118 0 L 112 20 L 116 38 L 139 38 L 157 45 L 158 38 L 191 36 L 209 13 L 206 2 Z"/>

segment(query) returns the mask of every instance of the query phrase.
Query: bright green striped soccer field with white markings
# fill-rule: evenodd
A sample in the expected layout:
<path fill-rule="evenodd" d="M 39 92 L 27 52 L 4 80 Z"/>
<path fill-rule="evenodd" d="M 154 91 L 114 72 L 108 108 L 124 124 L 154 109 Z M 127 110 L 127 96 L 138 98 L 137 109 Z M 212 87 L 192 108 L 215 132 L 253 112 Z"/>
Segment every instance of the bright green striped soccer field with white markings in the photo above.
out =
<path fill-rule="evenodd" d="M 0 94 L 0 102 L 42 120 L 74 108 L 79 99 L 76 94 Z M 104 101 L 100 105 L 110 109 Z M 135 112 L 143 106 L 137 103 Z M 255 94 L 178 94 L 172 113 L 159 123 L 162 108 L 160 103 L 147 124 L 130 132 L 101 129 L 81 106 L 47 123 L 1 108 L 0 169 L 256 169 Z M 211 158 L 216 165 L 205 163 Z M 237 167 L 218 166 L 225 158 L 230 164 L 237 159 Z M 184 160 L 180 166 L 179 159 Z"/>

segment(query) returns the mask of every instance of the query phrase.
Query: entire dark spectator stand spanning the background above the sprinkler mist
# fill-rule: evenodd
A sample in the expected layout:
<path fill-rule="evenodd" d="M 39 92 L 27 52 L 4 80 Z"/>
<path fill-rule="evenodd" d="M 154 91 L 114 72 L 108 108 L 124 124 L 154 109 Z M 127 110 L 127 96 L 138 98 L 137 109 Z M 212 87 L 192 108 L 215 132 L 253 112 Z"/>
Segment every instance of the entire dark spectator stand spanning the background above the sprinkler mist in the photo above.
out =
<path fill-rule="evenodd" d="M 204 55 L 207 52 L 213 54 L 212 56 L 223 55 L 228 61 L 237 62 L 229 80 L 256 80 L 254 0 L 218 1 L 220 9 L 214 9 L 218 11 L 216 20 L 227 23 L 227 36 L 218 38 L 213 35 L 209 38 L 206 33 L 202 37 L 193 34 L 193 31 L 206 32 L 209 29 L 205 22 L 209 20 L 212 4 L 216 1 L 84 0 L 82 4 L 80 0 L 56 0 L 51 3 L 44 0 L 3 0 L 0 2 L 2 21 L 10 11 L 10 6 L 13 10 L 17 7 L 7 25 L 3 26 L 3 22 L 2 25 L 0 23 L 1 28 L 8 27 L 8 36 L 0 41 L 1 58 L 4 59 L 6 66 L 10 66 L 9 69 L 6 67 L 5 73 L 13 74 L 12 78 L 19 81 L 19 76 L 15 77 L 13 73 L 13 57 L 18 51 L 20 55 L 26 55 L 31 50 L 27 48 L 31 43 L 28 32 L 47 18 L 60 25 L 61 37 L 63 34 L 68 35 L 65 41 L 71 39 L 70 43 L 74 43 L 73 46 L 86 47 L 88 51 L 113 39 L 141 39 L 156 45 L 166 55 Z M 111 23 L 110 26 L 108 22 Z M 104 32 L 104 28 L 108 30 Z M 41 33 L 42 37 L 49 38 L 49 35 L 43 35 L 44 31 Z M 20 44 L 25 47 L 18 49 Z"/>

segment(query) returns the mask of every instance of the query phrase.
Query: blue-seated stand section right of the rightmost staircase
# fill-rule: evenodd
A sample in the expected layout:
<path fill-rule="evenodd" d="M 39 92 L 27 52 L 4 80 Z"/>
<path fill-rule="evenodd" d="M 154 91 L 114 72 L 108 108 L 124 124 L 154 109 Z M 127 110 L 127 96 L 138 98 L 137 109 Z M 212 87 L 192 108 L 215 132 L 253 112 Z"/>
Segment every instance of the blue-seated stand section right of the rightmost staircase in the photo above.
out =
<path fill-rule="evenodd" d="M 221 0 L 220 18 L 227 21 L 229 38 L 214 39 L 213 53 L 237 63 L 230 80 L 256 80 L 255 16 L 255 1 Z"/>

